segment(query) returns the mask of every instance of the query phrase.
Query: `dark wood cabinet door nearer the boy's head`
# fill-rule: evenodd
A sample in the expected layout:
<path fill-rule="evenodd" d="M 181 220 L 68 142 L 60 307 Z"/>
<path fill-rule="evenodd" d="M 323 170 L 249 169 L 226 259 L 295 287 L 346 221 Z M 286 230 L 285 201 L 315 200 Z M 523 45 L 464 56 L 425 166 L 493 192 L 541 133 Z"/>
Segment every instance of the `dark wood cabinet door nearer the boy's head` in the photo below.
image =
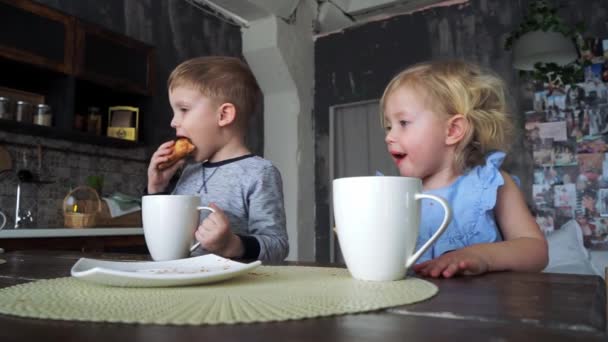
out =
<path fill-rule="evenodd" d="M 151 95 L 154 49 L 84 22 L 76 24 L 76 77 Z"/>

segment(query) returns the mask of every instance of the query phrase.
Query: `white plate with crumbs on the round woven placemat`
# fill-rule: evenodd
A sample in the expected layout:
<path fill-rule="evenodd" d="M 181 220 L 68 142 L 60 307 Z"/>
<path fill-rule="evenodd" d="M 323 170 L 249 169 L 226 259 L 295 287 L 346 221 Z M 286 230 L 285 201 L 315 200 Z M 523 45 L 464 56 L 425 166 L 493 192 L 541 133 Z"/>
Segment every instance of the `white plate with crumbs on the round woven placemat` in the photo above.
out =
<path fill-rule="evenodd" d="M 125 287 L 161 287 L 206 284 L 241 275 L 262 264 L 225 259 L 215 254 L 171 261 L 107 261 L 80 258 L 73 277 L 93 283 Z"/>

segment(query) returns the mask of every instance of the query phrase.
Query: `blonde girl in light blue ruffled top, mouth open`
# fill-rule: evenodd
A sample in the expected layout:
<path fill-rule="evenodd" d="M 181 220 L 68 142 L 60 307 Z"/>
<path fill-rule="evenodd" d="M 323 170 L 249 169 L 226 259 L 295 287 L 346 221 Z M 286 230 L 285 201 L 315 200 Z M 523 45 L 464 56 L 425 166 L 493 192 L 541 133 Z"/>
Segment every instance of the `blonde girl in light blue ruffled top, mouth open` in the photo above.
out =
<path fill-rule="evenodd" d="M 452 222 L 419 259 L 423 276 L 541 271 L 547 242 L 513 179 L 500 171 L 512 142 L 505 85 L 478 66 L 428 62 L 398 74 L 381 99 L 386 144 L 399 173 L 448 200 Z M 443 210 L 423 201 L 418 247 Z"/>

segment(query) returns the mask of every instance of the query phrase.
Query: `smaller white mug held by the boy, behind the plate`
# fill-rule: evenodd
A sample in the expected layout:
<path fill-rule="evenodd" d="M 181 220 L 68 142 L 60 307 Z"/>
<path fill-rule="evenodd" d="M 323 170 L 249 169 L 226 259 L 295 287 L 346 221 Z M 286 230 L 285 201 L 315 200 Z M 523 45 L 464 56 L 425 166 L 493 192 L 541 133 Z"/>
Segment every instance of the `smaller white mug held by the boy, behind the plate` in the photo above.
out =
<path fill-rule="evenodd" d="M 142 200 L 142 223 L 146 245 L 155 261 L 189 256 L 199 225 L 201 199 L 191 195 L 148 195 Z"/>

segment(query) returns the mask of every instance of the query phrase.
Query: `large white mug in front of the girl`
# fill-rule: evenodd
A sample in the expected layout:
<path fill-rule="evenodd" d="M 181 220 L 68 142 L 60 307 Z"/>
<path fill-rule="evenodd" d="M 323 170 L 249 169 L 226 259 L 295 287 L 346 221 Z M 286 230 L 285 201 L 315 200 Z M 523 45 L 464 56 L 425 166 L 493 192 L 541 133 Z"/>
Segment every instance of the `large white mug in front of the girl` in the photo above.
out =
<path fill-rule="evenodd" d="M 443 222 L 419 250 L 420 200 L 437 201 Z M 447 202 L 422 193 L 422 181 L 410 177 L 348 177 L 334 179 L 336 234 L 348 271 L 360 280 L 389 281 L 407 269 L 443 234 L 452 217 Z"/>

